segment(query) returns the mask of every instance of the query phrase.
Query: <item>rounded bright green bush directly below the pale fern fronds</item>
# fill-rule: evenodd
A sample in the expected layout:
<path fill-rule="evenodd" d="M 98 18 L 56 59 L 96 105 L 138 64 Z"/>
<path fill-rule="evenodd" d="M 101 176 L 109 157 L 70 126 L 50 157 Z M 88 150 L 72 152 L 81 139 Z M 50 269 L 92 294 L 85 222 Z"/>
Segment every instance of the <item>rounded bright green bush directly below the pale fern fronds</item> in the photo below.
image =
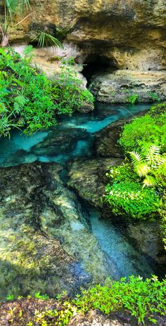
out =
<path fill-rule="evenodd" d="M 160 197 L 154 188 L 143 188 L 135 171 L 127 164 L 113 167 L 108 174 L 104 201 L 115 215 L 128 214 L 133 219 L 152 219 L 160 207 Z M 150 214 L 150 216 L 149 216 Z"/>

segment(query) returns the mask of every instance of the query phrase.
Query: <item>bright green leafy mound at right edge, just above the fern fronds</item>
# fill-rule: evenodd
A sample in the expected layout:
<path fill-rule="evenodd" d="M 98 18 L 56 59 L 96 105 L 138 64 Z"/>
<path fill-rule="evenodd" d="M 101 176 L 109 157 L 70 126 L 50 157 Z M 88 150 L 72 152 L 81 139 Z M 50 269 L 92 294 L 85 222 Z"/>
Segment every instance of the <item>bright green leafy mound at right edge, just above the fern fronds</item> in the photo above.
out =
<path fill-rule="evenodd" d="M 125 151 L 141 149 L 143 145 L 154 143 L 162 151 L 166 150 L 166 112 L 155 114 L 155 108 L 143 117 L 136 117 L 131 123 L 125 124 L 120 136 L 120 145 Z"/>

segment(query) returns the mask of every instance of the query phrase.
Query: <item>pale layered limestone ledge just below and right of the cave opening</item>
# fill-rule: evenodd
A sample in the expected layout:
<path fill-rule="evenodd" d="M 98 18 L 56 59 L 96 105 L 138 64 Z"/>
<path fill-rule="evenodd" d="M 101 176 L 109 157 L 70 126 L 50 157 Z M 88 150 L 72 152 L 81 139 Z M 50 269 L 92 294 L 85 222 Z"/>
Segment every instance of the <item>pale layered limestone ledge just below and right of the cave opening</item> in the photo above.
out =
<path fill-rule="evenodd" d="M 96 98 L 106 103 L 152 102 L 166 99 L 166 72 L 117 70 L 94 77 Z"/>

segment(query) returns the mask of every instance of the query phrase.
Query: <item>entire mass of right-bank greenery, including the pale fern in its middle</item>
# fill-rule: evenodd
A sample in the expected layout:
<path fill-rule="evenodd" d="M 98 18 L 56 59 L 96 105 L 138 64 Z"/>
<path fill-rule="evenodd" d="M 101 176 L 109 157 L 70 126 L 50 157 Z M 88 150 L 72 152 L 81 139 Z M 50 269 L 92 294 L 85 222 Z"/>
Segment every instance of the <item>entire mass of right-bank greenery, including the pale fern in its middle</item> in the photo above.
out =
<path fill-rule="evenodd" d="M 165 103 L 153 105 L 146 115 L 126 124 L 119 143 L 132 164 L 110 169 L 104 199 L 115 215 L 153 218 L 161 209 L 166 185 Z"/>

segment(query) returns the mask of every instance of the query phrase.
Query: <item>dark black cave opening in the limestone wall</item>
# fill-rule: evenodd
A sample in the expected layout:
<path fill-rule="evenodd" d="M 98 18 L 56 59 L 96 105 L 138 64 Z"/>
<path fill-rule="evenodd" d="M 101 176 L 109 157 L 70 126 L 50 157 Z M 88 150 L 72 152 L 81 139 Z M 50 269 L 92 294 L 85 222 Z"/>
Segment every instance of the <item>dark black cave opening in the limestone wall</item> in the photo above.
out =
<path fill-rule="evenodd" d="M 117 70 L 115 60 L 106 58 L 104 56 L 96 56 L 91 54 L 84 61 L 84 67 L 82 70 L 83 76 L 87 79 L 87 86 L 91 84 L 91 78 L 94 74 L 102 72 L 113 72 Z"/>

